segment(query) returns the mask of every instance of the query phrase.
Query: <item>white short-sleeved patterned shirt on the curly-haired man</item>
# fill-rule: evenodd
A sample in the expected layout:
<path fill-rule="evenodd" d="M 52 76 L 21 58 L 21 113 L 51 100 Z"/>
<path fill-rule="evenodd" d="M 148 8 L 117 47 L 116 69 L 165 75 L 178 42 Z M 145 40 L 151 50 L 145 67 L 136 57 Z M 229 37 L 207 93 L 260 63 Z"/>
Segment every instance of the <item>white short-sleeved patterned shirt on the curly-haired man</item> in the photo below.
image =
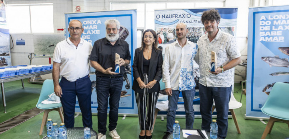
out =
<path fill-rule="evenodd" d="M 205 34 L 199 38 L 197 45 L 199 46 L 197 54 L 200 67 L 199 83 L 208 87 L 230 87 L 234 83 L 234 68 L 218 75 L 209 71 L 211 70 L 211 51 L 217 53 L 217 67 L 225 66 L 232 59 L 241 56 L 235 37 L 219 30 L 212 42 L 209 41 L 208 34 Z"/>

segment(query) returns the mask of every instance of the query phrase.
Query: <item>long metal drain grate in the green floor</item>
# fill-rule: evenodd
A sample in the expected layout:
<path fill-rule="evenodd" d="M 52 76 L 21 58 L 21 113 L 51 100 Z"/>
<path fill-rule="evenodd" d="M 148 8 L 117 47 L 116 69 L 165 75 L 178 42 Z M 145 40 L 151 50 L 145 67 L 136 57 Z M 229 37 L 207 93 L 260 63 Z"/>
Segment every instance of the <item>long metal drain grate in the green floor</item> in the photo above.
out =
<path fill-rule="evenodd" d="M 32 117 L 44 112 L 44 109 L 38 109 L 37 107 L 23 112 L 5 122 L 0 123 L 0 134 L 6 132 L 7 130 L 16 127 L 17 125 L 31 119 Z"/>

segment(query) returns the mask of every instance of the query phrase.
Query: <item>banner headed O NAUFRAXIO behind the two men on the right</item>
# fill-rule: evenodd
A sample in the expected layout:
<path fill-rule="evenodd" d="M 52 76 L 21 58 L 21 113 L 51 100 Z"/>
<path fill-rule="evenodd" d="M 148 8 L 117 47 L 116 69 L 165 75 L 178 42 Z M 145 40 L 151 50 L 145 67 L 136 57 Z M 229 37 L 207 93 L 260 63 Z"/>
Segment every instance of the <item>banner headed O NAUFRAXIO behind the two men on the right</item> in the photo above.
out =
<path fill-rule="evenodd" d="M 204 11 L 209 9 L 171 9 L 171 10 L 155 10 L 155 30 L 158 35 L 158 48 L 164 51 L 167 45 L 176 41 L 176 25 L 179 23 L 184 23 L 187 25 L 189 32 L 186 38 L 196 43 L 199 37 L 206 33 L 204 25 L 201 22 L 201 16 Z M 237 11 L 238 8 L 217 8 L 219 14 L 221 15 L 221 21 L 218 28 L 223 32 L 227 32 L 233 36 L 236 36 L 236 26 L 237 26 Z M 196 84 L 199 82 L 199 66 L 194 62 L 194 79 Z M 194 110 L 195 115 L 201 116 L 199 104 L 199 86 L 196 86 L 196 94 L 194 98 Z M 166 111 L 160 111 L 159 114 L 166 115 Z M 216 112 L 213 113 L 216 115 Z M 176 115 L 185 115 L 184 102 L 182 99 L 182 94 L 180 93 L 178 109 L 176 110 Z"/>

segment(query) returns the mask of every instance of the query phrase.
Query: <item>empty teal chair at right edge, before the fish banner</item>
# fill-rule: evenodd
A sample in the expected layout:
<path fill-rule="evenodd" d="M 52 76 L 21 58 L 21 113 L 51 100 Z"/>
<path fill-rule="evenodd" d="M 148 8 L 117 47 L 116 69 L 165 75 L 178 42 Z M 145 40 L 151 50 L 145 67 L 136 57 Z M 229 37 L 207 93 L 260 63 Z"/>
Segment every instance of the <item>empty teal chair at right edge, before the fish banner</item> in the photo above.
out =
<path fill-rule="evenodd" d="M 261 139 L 271 133 L 275 121 L 283 121 L 289 128 L 289 84 L 277 82 L 274 84 L 262 112 L 270 116 Z"/>

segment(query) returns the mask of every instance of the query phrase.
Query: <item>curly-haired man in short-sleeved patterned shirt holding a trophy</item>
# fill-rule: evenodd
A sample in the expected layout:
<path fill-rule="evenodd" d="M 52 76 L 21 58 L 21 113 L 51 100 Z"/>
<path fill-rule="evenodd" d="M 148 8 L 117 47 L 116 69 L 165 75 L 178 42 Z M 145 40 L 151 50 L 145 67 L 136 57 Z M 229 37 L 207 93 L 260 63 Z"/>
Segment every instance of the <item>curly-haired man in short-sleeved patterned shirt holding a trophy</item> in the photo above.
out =
<path fill-rule="evenodd" d="M 234 67 L 241 62 L 241 54 L 235 37 L 218 29 L 220 19 L 216 9 L 203 12 L 201 21 L 207 33 L 202 35 L 197 42 L 199 51 L 196 62 L 199 62 L 201 75 L 199 96 L 202 130 L 210 131 L 214 99 L 217 110 L 218 137 L 226 138 L 229 100 L 234 83 Z M 211 51 L 217 53 L 218 65 L 216 66 L 218 68 L 215 72 L 210 71 Z"/>

